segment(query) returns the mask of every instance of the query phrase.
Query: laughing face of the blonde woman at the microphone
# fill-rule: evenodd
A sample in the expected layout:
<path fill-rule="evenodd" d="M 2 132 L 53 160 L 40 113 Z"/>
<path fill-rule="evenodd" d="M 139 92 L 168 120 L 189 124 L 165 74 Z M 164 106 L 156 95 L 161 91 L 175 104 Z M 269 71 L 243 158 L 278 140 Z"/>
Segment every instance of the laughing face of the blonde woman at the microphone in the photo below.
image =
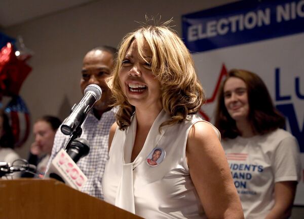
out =
<path fill-rule="evenodd" d="M 137 52 L 137 43 L 133 41 L 122 61 L 119 72 L 120 84 L 128 102 L 136 108 L 162 109 L 161 86 L 151 70 L 152 52 L 145 44 L 144 61 Z"/>

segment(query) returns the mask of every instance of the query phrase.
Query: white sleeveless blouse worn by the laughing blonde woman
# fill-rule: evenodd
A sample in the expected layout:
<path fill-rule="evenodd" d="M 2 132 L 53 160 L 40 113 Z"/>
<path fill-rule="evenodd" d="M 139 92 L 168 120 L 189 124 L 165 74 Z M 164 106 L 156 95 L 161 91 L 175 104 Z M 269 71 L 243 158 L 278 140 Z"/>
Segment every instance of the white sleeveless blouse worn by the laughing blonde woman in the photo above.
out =
<path fill-rule="evenodd" d="M 136 116 L 127 130 L 116 130 L 102 179 L 104 200 L 144 218 L 206 218 L 185 157 L 189 130 L 204 120 L 191 115 L 160 133 L 160 124 L 169 118 L 160 112 L 133 163 Z M 165 157 L 156 166 L 148 165 L 147 157 L 156 147 Z"/>

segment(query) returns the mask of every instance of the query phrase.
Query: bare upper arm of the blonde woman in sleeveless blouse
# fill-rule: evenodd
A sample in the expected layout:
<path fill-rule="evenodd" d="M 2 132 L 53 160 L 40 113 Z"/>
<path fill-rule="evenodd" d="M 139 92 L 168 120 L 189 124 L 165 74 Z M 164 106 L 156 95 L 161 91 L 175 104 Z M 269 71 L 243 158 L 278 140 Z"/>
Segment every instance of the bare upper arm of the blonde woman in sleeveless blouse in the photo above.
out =
<path fill-rule="evenodd" d="M 186 147 L 189 172 L 208 218 L 244 218 L 225 153 L 212 126 L 197 122 Z"/>

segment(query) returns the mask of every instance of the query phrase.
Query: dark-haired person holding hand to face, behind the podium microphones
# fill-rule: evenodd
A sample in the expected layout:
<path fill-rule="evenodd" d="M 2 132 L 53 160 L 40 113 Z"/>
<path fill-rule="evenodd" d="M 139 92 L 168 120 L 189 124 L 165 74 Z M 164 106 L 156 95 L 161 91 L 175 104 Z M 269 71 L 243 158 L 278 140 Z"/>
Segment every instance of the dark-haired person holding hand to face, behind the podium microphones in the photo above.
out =
<path fill-rule="evenodd" d="M 35 141 L 31 144 L 28 163 L 36 166 L 36 174 L 44 175 L 57 129 L 61 121 L 59 118 L 45 115 L 36 120 L 33 126 Z M 22 174 L 22 177 L 34 177 L 29 172 Z"/>

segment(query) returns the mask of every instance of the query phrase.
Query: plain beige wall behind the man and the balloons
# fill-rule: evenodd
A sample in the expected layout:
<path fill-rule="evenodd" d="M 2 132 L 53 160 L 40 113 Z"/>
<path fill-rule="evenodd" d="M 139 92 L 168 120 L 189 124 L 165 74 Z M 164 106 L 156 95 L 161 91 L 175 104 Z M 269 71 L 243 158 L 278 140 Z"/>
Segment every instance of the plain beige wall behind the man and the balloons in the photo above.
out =
<path fill-rule="evenodd" d="M 95 1 L 3 29 L 11 37 L 22 36 L 35 53 L 28 61 L 33 70 L 20 90 L 31 125 L 45 114 L 65 118 L 82 97 L 79 81 L 85 53 L 100 45 L 118 46 L 125 34 L 139 26 L 135 21 L 144 21 L 145 14 L 161 15 L 162 21 L 173 17 L 173 28 L 181 33 L 181 15 L 230 2 L 235 0 Z M 30 133 L 18 149 L 23 158 L 32 141 Z"/>

